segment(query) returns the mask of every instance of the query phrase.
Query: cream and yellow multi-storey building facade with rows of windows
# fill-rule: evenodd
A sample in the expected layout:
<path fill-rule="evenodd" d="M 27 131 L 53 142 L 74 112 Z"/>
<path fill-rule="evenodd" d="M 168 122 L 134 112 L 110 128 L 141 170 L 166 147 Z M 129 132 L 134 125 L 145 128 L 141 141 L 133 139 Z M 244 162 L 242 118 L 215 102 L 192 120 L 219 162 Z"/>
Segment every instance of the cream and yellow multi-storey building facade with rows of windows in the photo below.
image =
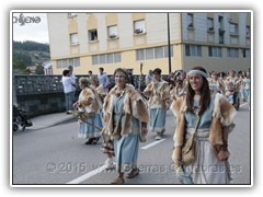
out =
<path fill-rule="evenodd" d="M 118 68 L 247 70 L 251 66 L 251 12 L 47 13 L 53 73 Z M 169 56 L 170 54 L 170 56 Z"/>

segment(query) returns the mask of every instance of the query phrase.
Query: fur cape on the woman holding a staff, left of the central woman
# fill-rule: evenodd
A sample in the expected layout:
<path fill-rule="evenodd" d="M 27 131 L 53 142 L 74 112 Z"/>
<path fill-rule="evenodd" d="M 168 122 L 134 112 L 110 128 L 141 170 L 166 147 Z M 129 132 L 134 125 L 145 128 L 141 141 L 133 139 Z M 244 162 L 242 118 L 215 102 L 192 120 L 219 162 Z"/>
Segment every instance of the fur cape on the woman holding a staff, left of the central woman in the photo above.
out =
<path fill-rule="evenodd" d="M 96 113 L 100 108 L 99 101 L 90 88 L 85 88 L 79 95 L 80 109 L 84 108 L 87 113 Z"/>

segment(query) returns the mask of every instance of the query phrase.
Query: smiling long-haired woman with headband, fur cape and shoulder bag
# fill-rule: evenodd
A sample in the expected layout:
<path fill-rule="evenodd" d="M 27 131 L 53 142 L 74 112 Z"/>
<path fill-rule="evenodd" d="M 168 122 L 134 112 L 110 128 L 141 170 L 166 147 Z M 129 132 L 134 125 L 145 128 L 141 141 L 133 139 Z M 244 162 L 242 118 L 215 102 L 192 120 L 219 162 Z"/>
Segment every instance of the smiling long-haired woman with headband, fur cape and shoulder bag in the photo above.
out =
<path fill-rule="evenodd" d="M 176 117 L 172 159 L 182 182 L 183 174 L 187 173 L 194 184 L 228 184 L 231 178 L 228 134 L 235 127 L 237 112 L 221 94 L 210 95 L 206 78 L 203 67 L 194 67 L 188 72 L 186 95 L 171 105 Z M 187 165 L 183 153 L 185 141 L 191 137 L 194 137 L 195 151 L 193 162 Z"/>

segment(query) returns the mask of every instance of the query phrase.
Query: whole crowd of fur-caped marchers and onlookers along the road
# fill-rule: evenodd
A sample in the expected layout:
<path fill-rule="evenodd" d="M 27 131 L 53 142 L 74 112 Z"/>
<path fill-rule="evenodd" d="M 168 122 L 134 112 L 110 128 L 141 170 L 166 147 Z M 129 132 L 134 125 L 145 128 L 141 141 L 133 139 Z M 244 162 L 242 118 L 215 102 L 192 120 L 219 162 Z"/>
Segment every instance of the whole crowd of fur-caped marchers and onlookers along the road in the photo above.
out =
<path fill-rule="evenodd" d="M 87 144 L 96 144 L 102 138 L 106 169 L 117 172 L 111 184 L 124 184 L 124 177 L 139 174 L 139 142 L 146 140 L 148 130 L 156 134 L 156 140 L 162 139 L 168 109 L 176 121 L 172 159 L 178 178 L 187 184 L 229 183 L 228 134 L 235 127 L 233 95 L 240 92 L 243 101 L 250 101 L 250 70 L 238 76 L 230 70 L 227 76 L 194 67 L 187 73 L 172 72 L 164 80 L 161 69 L 156 68 L 146 76 L 144 91 L 135 89 L 124 68 L 114 71 L 114 85 L 103 68 L 99 71 L 98 76 L 89 71 L 88 78 L 79 79 L 81 92 L 77 101 L 72 67 L 64 70 L 61 82 L 67 113 L 81 114 L 79 138 L 87 139 Z M 182 158 L 191 137 L 195 143 L 194 161 L 186 164 Z M 204 166 L 226 170 L 199 171 Z"/>

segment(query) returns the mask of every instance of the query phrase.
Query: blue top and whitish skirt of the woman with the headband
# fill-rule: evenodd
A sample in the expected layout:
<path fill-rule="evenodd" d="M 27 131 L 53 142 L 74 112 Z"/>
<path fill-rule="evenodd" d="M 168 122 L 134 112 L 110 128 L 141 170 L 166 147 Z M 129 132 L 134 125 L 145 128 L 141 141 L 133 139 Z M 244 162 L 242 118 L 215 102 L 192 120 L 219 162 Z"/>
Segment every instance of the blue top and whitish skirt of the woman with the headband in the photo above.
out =
<path fill-rule="evenodd" d="M 198 101 L 194 101 L 194 106 L 198 106 Z M 209 128 L 213 120 L 214 97 L 209 107 L 201 116 L 198 130 L 195 134 L 195 161 L 186 166 L 187 173 L 193 178 L 194 184 L 228 184 L 230 181 L 229 166 L 227 161 L 219 161 L 209 141 Z M 187 134 L 193 134 L 196 123 L 196 115 L 185 114 Z M 187 135 L 188 136 L 188 135 Z"/>

